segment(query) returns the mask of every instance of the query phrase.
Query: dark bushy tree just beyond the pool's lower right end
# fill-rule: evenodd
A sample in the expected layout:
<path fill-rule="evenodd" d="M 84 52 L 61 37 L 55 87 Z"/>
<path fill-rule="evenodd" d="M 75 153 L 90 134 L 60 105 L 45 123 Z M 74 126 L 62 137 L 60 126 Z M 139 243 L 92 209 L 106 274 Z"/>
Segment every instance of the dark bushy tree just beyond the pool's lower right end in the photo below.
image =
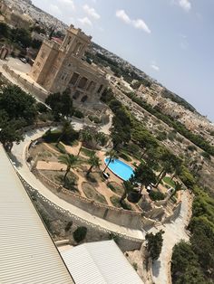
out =
<path fill-rule="evenodd" d="M 134 171 L 132 179 L 141 184 L 142 191 L 143 186 L 155 184 L 156 175 L 149 166 L 140 164 Z"/>

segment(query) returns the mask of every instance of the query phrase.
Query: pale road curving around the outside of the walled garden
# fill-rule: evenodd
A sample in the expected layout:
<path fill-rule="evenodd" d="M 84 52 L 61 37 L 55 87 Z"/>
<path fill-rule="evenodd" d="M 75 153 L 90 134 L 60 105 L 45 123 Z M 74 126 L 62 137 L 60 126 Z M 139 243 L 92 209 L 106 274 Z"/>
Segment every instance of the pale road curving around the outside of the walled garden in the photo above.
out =
<path fill-rule="evenodd" d="M 83 123 L 73 121 L 73 127 L 76 130 L 81 129 L 83 128 Z M 14 145 L 14 147 L 12 148 L 11 159 L 14 162 L 19 174 L 23 176 L 24 180 L 29 185 L 32 185 L 35 189 L 37 189 L 40 194 L 43 194 L 44 197 L 53 202 L 53 204 L 56 204 L 62 207 L 63 209 L 68 210 L 70 213 L 73 213 L 77 217 L 80 217 L 88 222 L 92 222 L 93 224 L 99 225 L 102 228 L 110 230 L 112 232 L 118 232 L 131 238 L 144 240 L 145 232 L 125 228 L 123 226 L 93 216 L 90 213 L 86 213 L 82 209 L 75 207 L 72 204 L 68 204 L 67 202 L 60 199 L 58 196 L 48 190 L 38 179 L 36 179 L 36 177 L 30 172 L 29 167 L 26 165 L 24 153 L 26 147 L 28 147 L 31 140 L 41 137 L 46 131 L 46 129 L 47 128 L 37 129 L 26 133 L 24 141 L 21 142 L 19 145 Z M 108 131 L 108 129 L 105 129 L 105 131 Z M 190 194 L 188 193 L 188 191 L 184 191 L 181 194 L 180 215 L 175 219 L 175 221 L 160 225 L 160 227 L 158 228 L 151 228 L 151 230 L 149 231 L 157 232 L 162 229 L 165 232 L 163 235 L 163 246 L 162 251 L 160 253 L 160 259 L 156 260 L 152 265 L 152 279 L 154 283 L 170 283 L 170 259 L 172 254 L 172 248 L 181 239 L 186 241 L 189 240 L 189 236 L 185 230 L 185 226 L 190 221 L 190 213 Z"/>

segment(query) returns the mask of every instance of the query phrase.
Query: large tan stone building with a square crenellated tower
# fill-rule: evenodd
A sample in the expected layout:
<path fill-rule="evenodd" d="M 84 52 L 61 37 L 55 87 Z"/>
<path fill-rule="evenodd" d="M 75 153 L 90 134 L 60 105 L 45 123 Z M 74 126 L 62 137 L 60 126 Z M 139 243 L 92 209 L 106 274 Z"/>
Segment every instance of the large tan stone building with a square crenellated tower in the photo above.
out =
<path fill-rule="evenodd" d="M 62 92 L 70 89 L 77 101 L 97 101 L 108 86 L 105 73 L 96 65 L 83 61 L 92 37 L 71 25 L 59 43 L 44 40 L 30 76 L 45 90 Z"/>

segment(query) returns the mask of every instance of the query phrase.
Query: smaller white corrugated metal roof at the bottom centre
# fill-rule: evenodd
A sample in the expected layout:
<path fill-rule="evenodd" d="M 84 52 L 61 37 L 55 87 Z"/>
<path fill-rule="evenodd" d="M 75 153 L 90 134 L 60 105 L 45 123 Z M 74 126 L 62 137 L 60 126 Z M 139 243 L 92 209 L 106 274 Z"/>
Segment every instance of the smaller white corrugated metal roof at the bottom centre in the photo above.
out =
<path fill-rule="evenodd" d="M 76 284 L 141 284 L 114 241 L 83 243 L 62 252 Z"/>

